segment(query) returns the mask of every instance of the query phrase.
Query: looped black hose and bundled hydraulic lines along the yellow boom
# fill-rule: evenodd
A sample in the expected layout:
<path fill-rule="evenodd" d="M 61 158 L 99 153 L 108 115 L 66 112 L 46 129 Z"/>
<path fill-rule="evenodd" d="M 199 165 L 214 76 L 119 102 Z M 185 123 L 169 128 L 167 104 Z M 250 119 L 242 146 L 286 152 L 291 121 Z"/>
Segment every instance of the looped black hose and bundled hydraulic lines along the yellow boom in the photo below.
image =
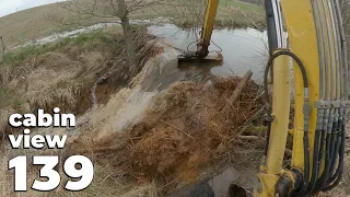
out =
<path fill-rule="evenodd" d="M 345 167 L 349 67 L 339 2 L 338 0 L 335 0 L 335 2 L 332 0 L 311 1 L 316 25 L 319 58 L 319 102 L 317 102 L 317 126 L 314 137 L 312 157 L 314 162 L 312 166 L 308 144 L 308 118 L 311 113 L 308 81 L 302 61 L 288 49 L 277 51 L 271 55 L 264 73 L 265 100 L 267 102 L 269 120 L 267 125 L 265 157 L 268 154 L 271 121 L 273 120 L 271 117 L 271 103 L 267 82 L 273 60 L 282 55 L 292 57 L 298 63 L 303 77 L 305 93 L 303 137 L 304 172 L 303 177 L 301 177 L 303 183 L 298 190 L 293 192 L 293 196 L 310 196 L 320 190 L 326 192 L 332 189 L 340 183 Z"/>

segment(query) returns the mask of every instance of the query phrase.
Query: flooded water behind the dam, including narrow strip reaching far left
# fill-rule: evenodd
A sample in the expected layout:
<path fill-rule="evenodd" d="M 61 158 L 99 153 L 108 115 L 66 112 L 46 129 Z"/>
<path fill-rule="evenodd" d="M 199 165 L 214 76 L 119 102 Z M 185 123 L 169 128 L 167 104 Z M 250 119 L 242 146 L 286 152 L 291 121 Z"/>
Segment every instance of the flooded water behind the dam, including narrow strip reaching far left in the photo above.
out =
<path fill-rule="evenodd" d="M 223 62 L 182 62 L 177 56 L 182 51 L 196 51 L 200 28 L 182 30 L 174 24 L 166 23 L 165 19 L 135 20 L 132 24 L 156 24 L 148 27 L 149 33 L 160 38 L 164 48 L 161 57 L 150 61 L 150 78 L 143 81 L 143 90 L 161 91 L 176 81 L 196 81 L 206 83 L 209 79 L 228 76 L 243 76 L 247 70 L 253 71 L 253 79 L 262 82 L 264 68 L 268 57 L 268 38 L 266 32 L 255 28 L 222 28 L 214 30 L 209 47 L 210 55 L 221 53 Z M 40 39 L 32 40 L 26 45 L 42 45 L 56 42 L 65 37 L 77 37 L 104 27 L 117 26 L 118 23 L 101 23 L 71 32 L 54 34 Z"/>

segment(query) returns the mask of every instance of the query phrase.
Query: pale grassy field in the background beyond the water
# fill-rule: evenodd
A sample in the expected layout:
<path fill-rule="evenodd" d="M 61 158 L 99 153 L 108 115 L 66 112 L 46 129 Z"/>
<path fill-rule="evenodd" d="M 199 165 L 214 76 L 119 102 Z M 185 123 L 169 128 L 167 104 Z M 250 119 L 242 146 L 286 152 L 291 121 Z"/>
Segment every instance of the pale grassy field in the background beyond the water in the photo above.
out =
<path fill-rule="evenodd" d="M 183 0 L 178 0 L 179 2 Z M 180 2 L 179 4 L 187 5 Z M 171 3 L 174 3 L 172 1 Z M 162 3 L 160 5 L 150 7 L 137 12 L 131 12 L 131 19 L 154 19 L 154 18 L 177 18 L 182 22 L 176 22 L 178 25 L 190 23 L 188 19 L 188 13 L 191 13 L 192 10 L 201 8 L 178 8 L 174 10 L 172 5 Z M 199 11 L 203 12 L 205 9 Z M 260 24 L 264 21 L 261 9 L 255 4 L 245 3 L 236 0 L 220 0 L 220 10 L 218 13 L 218 26 L 249 26 L 248 20 L 244 19 L 240 12 L 244 11 L 253 19 L 257 24 Z M 24 11 L 20 11 L 3 18 L 0 18 L 0 35 L 3 37 L 3 42 L 8 49 L 22 45 L 27 40 L 37 39 L 43 36 L 51 35 L 56 32 L 71 31 L 78 28 L 79 25 L 71 23 L 70 25 L 59 25 L 50 20 L 47 20 L 47 16 L 51 13 L 65 16 L 69 19 L 69 22 L 77 22 L 81 18 L 68 10 L 62 9 L 61 7 L 54 4 L 37 7 Z M 197 16 L 199 22 L 201 22 L 202 16 Z M 100 22 L 115 22 L 116 19 L 93 19 L 85 16 L 83 19 L 86 24 L 95 24 Z M 185 21 L 184 21 L 185 20 Z"/>

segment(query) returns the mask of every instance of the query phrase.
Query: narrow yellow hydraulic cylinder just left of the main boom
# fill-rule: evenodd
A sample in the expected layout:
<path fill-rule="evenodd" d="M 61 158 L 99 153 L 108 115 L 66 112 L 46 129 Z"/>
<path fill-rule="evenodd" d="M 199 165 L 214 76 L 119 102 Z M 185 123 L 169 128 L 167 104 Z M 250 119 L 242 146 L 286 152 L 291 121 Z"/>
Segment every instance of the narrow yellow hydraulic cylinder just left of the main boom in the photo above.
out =
<path fill-rule="evenodd" d="M 279 51 L 279 50 L 276 50 Z M 275 196 L 275 187 L 282 172 L 283 157 L 289 132 L 289 114 L 291 103 L 290 57 L 280 56 L 273 61 L 273 121 L 266 165 L 261 166 L 258 177 L 262 185 L 256 196 Z"/>

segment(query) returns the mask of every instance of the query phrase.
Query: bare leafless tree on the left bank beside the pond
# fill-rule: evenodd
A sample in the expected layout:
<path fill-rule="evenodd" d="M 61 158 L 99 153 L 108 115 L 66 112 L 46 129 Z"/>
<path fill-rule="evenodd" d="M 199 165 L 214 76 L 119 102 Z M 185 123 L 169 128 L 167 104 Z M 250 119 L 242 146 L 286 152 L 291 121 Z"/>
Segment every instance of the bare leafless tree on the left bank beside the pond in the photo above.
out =
<path fill-rule="evenodd" d="M 137 53 L 132 44 L 133 35 L 130 30 L 129 14 L 133 11 L 158 4 L 161 1 L 164 0 L 71 0 L 58 3 L 58 5 L 78 15 L 78 19 L 74 19 L 73 22 L 57 13 L 51 13 L 46 18 L 65 25 L 78 24 L 80 26 L 88 26 L 101 22 L 121 24 L 126 40 L 128 65 L 131 67 L 136 63 Z"/>

